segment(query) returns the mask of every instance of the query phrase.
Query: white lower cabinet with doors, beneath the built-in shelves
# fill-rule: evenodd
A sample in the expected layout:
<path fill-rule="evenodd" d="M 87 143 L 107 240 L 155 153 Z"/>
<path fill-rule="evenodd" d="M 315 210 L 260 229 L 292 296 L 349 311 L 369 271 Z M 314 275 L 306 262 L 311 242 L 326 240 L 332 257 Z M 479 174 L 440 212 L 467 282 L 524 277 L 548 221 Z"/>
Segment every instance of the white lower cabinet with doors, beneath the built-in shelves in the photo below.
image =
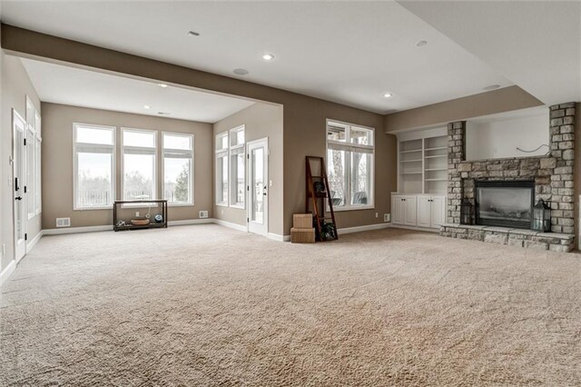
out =
<path fill-rule="evenodd" d="M 391 195 L 391 223 L 439 229 L 446 222 L 446 195 Z"/>

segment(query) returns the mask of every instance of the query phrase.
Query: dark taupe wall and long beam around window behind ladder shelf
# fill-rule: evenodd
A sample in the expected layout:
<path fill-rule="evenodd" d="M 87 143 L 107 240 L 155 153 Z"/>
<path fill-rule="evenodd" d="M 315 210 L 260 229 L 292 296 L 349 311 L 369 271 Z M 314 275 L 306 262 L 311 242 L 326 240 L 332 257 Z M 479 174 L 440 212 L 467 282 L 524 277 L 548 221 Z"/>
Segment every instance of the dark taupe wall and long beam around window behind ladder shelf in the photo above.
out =
<path fill-rule="evenodd" d="M 340 213 L 339 227 L 381 223 L 381 214 L 389 212 L 389 192 L 396 190 L 397 155 L 395 138 L 380 135 L 383 116 L 341 104 L 334 104 L 281 89 L 252 84 L 230 77 L 171 65 L 153 59 L 129 55 L 103 47 L 85 45 L 33 31 L 2 25 L 2 45 L 20 55 L 38 59 L 62 61 L 89 66 L 95 70 L 116 72 L 140 78 L 201 88 L 209 91 L 241 95 L 261 101 L 282 104 L 284 107 L 283 157 L 283 231 L 291 229 L 292 213 L 304 211 L 304 158 L 324 155 L 325 119 L 334 118 L 376 129 L 376 210 Z M 297 189 L 297 187 L 300 187 Z M 375 218 L 375 212 L 379 218 Z"/>

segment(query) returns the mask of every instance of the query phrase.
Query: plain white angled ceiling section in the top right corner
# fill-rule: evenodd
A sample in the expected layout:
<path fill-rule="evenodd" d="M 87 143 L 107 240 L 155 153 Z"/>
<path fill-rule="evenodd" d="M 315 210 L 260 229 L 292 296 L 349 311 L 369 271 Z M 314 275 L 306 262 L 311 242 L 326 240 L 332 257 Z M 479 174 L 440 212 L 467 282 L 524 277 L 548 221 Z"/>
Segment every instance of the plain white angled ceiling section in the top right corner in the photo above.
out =
<path fill-rule="evenodd" d="M 400 4 L 544 104 L 581 101 L 581 2 Z"/>

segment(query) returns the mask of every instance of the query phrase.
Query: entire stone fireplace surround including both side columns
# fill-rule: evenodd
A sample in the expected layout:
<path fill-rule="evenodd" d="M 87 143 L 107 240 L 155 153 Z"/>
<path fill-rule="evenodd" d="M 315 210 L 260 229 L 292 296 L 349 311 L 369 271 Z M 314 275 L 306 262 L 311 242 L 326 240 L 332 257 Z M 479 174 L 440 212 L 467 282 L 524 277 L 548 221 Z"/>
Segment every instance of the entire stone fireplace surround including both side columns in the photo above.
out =
<path fill-rule="evenodd" d="M 550 107 L 550 154 L 466 161 L 466 122 L 448 124 L 448 223 L 460 223 L 464 198 L 474 204 L 476 180 L 534 180 L 535 202 L 551 203 L 551 231 L 575 233 L 575 103 Z"/>

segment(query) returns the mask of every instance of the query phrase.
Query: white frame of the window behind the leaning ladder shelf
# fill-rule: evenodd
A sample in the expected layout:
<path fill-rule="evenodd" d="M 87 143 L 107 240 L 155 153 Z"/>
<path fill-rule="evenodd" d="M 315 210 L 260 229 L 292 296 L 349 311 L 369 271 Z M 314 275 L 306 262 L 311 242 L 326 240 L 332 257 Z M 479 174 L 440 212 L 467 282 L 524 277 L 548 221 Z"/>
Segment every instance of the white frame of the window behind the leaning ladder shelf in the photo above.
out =
<path fill-rule="evenodd" d="M 345 127 L 345 141 L 333 141 L 329 140 L 328 128 L 330 124 L 336 124 L 338 126 Z M 360 144 L 350 144 L 350 129 L 351 128 L 359 128 L 369 130 L 371 132 L 371 144 L 373 145 L 360 145 Z M 369 203 L 367 204 L 350 204 L 350 205 L 342 205 L 342 206 L 333 206 L 333 211 L 335 212 L 342 212 L 342 211 L 358 211 L 358 210 L 372 210 L 375 209 L 375 128 L 370 126 L 364 126 L 359 124 L 350 124 L 346 122 L 342 122 L 339 120 L 333 120 L 328 118 L 325 123 L 325 166 L 329 165 L 328 154 L 329 154 L 329 144 L 336 144 L 344 148 L 351 148 L 351 149 L 365 149 L 368 151 L 372 151 L 371 157 L 373 159 L 373 163 L 370 165 L 370 182 L 369 182 Z M 347 186 L 346 186 L 346 198 L 345 201 L 350 203 L 350 194 L 351 194 L 351 179 L 350 179 L 350 159 L 345 160 L 345 170 L 348 175 Z M 329 175 L 328 171 L 327 174 Z M 347 200 L 349 199 L 349 201 Z M 329 210 L 329 203 L 327 203 L 327 210 Z"/>

